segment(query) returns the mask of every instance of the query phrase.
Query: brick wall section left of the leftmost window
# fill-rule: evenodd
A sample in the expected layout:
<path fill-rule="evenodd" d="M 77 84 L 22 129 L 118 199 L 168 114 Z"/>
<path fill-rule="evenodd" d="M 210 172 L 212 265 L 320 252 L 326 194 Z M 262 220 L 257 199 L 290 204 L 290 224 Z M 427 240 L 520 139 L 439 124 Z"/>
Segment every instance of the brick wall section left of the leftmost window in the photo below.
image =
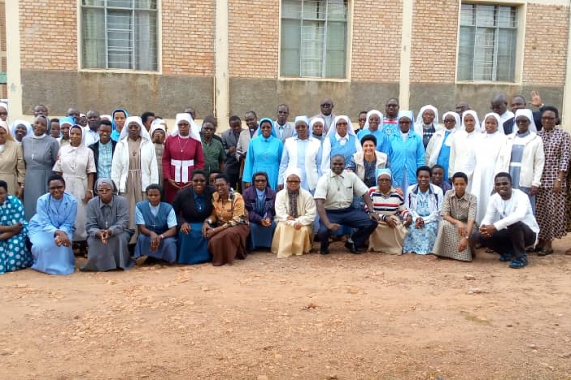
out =
<path fill-rule="evenodd" d="M 19 0 L 22 69 L 77 70 L 77 2 Z"/>

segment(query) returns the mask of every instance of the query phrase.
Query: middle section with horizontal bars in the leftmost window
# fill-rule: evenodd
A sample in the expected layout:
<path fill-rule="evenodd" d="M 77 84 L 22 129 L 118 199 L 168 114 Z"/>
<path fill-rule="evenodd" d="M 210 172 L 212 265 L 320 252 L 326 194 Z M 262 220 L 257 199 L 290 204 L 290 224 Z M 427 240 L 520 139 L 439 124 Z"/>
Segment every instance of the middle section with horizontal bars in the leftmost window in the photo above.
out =
<path fill-rule="evenodd" d="M 132 20 L 130 11 L 107 11 L 107 66 L 132 68 Z"/>

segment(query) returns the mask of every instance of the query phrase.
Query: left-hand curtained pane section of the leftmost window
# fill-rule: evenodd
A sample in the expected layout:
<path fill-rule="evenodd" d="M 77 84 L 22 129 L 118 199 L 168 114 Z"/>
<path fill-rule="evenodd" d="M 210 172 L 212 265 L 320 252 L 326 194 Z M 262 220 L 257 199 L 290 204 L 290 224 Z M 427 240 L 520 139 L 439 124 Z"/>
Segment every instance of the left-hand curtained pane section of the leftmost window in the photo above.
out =
<path fill-rule="evenodd" d="M 103 9 L 83 9 L 82 34 L 83 67 L 105 68 L 105 14 Z"/>

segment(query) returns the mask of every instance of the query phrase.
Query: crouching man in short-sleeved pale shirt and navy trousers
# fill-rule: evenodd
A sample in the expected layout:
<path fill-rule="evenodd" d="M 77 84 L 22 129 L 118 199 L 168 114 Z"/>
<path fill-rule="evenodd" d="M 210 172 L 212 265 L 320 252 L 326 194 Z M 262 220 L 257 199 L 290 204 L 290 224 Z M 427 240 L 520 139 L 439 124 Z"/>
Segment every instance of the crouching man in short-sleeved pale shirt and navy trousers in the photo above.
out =
<path fill-rule="evenodd" d="M 341 228 L 341 224 L 357 231 L 345 243 L 345 248 L 352 254 L 359 254 L 359 248 L 365 247 L 369 235 L 375 231 L 380 216 L 373 209 L 371 198 L 365 185 L 355 173 L 345 171 L 345 157 L 336 154 L 331 158 L 331 171 L 325 173 L 315 188 L 315 204 L 320 223 L 317 236 L 321 242 L 319 253 L 329 253 L 329 235 Z M 369 215 L 363 210 L 355 209 L 351 204 L 353 197 L 363 197 Z"/>

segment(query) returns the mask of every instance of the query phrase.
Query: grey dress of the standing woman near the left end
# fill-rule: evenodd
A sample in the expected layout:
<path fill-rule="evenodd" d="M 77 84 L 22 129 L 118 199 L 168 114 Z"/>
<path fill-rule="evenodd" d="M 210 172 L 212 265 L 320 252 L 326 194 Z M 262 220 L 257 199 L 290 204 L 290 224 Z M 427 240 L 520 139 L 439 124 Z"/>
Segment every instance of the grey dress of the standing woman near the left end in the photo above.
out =
<path fill-rule="evenodd" d="M 26 179 L 24 181 L 24 214 L 27 220 L 35 215 L 38 198 L 47 193 L 47 179 L 54 174 L 52 168 L 58 159 L 59 142 L 51 136 L 22 139 Z"/>

